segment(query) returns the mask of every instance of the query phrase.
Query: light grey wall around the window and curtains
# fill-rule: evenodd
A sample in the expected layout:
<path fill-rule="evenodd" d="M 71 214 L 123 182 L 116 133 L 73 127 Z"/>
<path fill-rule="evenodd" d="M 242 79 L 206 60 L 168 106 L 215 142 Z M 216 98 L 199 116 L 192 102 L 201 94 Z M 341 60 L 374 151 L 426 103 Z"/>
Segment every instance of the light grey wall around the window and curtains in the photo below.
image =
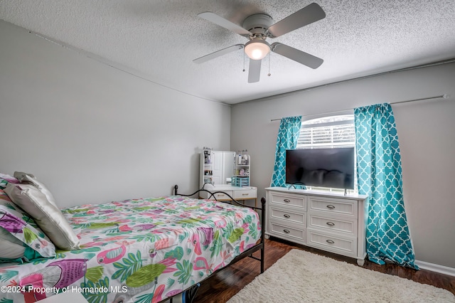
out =
<path fill-rule="evenodd" d="M 419 261 L 455 272 L 455 63 L 246 102 L 232 107 L 231 149 L 248 149 L 252 186 L 265 195 L 279 121 L 382 102 L 449 94 L 449 99 L 392 105 L 400 140 L 405 208 Z M 352 111 L 351 111 L 352 112 Z M 333 114 L 332 114 L 333 115 Z M 319 115 L 321 116 L 321 115 Z"/>

